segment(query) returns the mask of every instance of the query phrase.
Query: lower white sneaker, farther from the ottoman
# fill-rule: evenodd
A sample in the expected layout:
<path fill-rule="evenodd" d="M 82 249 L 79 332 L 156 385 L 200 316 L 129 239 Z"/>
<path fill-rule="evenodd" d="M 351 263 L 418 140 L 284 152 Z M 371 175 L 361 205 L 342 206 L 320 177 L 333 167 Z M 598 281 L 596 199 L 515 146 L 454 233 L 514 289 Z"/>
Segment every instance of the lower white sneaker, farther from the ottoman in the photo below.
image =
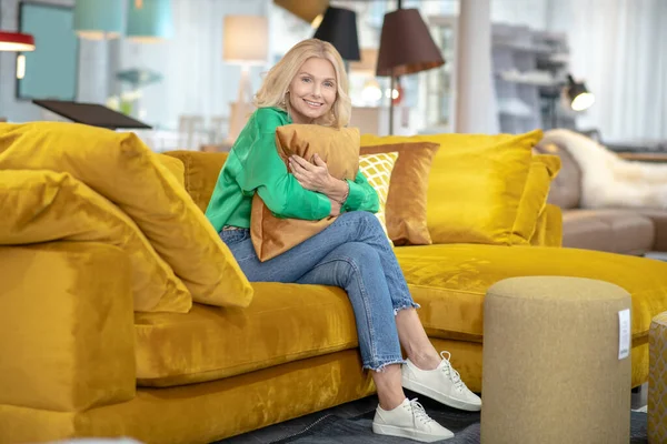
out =
<path fill-rule="evenodd" d="M 417 400 L 409 401 L 407 397 L 394 410 L 387 411 L 378 405 L 372 431 L 378 435 L 407 437 L 422 443 L 454 437 L 454 433 L 435 422 Z"/>

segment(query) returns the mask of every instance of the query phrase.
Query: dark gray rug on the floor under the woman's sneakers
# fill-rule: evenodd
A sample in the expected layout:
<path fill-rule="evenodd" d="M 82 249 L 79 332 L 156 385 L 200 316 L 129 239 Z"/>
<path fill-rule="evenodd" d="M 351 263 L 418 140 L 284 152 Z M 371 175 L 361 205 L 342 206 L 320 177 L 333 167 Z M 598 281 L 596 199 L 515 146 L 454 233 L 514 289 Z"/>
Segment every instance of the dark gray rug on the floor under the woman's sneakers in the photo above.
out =
<path fill-rule="evenodd" d="M 412 398 L 412 394 L 408 394 Z M 371 423 L 377 397 L 370 396 L 352 403 L 287 421 L 259 431 L 218 442 L 218 444 L 406 444 L 414 441 L 379 436 L 372 433 Z M 427 413 L 455 437 L 447 444 L 478 444 L 479 413 L 461 412 L 420 397 Z M 648 443 L 646 413 L 631 412 L 630 444 Z"/>

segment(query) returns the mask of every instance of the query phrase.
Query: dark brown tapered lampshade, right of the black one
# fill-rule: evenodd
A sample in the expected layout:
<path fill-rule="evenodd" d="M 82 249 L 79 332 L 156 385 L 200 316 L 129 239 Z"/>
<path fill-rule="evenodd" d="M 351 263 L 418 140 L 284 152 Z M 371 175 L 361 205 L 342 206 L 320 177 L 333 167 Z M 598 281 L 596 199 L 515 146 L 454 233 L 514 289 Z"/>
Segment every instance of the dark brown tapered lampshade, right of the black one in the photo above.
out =
<path fill-rule="evenodd" d="M 377 75 L 404 75 L 445 64 L 417 9 L 385 14 Z"/>

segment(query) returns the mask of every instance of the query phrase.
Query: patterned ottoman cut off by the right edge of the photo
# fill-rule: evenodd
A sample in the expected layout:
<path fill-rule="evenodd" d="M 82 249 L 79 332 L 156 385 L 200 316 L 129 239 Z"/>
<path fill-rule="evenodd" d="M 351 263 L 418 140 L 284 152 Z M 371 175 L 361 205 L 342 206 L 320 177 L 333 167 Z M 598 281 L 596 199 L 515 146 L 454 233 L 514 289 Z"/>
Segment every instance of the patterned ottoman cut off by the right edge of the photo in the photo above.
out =
<path fill-rule="evenodd" d="M 667 443 L 667 312 L 648 332 L 648 442 Z"/>

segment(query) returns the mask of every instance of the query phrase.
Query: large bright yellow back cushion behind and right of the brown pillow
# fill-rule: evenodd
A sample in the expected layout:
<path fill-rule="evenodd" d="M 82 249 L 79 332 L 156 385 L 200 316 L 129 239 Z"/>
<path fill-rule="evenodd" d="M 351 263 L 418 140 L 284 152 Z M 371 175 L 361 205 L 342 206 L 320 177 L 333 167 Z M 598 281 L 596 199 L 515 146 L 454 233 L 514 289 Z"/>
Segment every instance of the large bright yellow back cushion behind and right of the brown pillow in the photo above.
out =
<path fill-rule="evenodd" d="M 426 141 L 438 143 L 429 176 L 428 229 L 434 243 L 528 244 L 517 224 L 519 202 L 542 132 L 525 134 L 428 134 L 376 137 L 361 145 Z M 520 242 L 519 242 L 520 241 Z"/>

